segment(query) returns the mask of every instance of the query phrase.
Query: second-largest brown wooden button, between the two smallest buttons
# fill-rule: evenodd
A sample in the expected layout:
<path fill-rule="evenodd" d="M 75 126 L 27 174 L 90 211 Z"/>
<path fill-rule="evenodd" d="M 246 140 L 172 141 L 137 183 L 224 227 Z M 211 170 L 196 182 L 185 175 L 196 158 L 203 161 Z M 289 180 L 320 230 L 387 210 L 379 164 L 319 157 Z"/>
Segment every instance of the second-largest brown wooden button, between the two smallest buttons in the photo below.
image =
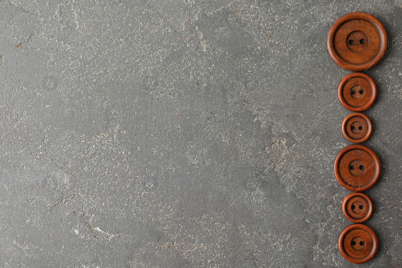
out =
<path fill-rule="evenodd" d="M 360 144 L 340 150 L 334 162 L 336 180 L 353 192 L 362 192 L 373 186 L 380 171 L 378 156 L 369 147 Z"/>

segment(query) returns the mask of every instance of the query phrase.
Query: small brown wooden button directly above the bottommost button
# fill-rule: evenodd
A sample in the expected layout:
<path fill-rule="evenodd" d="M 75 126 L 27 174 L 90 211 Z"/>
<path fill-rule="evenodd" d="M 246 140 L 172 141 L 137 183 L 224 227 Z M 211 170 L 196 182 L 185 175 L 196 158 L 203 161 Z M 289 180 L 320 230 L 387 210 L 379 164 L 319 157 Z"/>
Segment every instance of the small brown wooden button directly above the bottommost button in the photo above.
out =
<path fill-rule="evenodd" d="M 362 223 L 371 217 L 373 203 L 367 195 L 361 192 L 353 192 L 343 199 L 342 211 L 349 221 Z"/>

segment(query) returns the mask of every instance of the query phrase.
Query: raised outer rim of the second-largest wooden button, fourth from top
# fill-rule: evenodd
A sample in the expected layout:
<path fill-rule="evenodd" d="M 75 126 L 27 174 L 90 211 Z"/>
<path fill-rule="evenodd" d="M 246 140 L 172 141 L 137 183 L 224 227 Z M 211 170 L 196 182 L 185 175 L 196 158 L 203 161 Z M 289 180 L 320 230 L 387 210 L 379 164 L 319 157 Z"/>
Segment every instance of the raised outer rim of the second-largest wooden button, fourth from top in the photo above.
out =
<path fill-rule="evenodd" d="M 342 179 L 342 177 L 340 176 L 340 172 L 338 170 L 338 164 L 340 162 L 340 159 L 342 158 L 342 156 L 347 153 L 348 151 L 351 150 L 363 150 L 365 152 L 367 152 L 374 160 L 375 163 L 375 173 L 373 178 L 370 180 L 369 183 L 365 184 L 364 186 L 348 186 L 348 184 Z M 336 180 L 339 182 L 340 185 L 342 185 L 344 188 L 348 189 L 349 191 L 352 192 L 363 192 L 369 188 L 371 188 L 378 180 L 379 175 L 381 173 L 381 164 L 379 162 L 379 158 L 377 156 L 377 154 L 370 149 L 367 146 L 361 145 L 361 144 L 352 144 L 352 145 L 348 145 L 346 147 L 344 147 L 343 149 L 341 149 L 339 151 L 339 153 L 336 155 L 335 157 L 335 161 L 334 161 L 334 174 L 335 174 L 335 178 Z"/>

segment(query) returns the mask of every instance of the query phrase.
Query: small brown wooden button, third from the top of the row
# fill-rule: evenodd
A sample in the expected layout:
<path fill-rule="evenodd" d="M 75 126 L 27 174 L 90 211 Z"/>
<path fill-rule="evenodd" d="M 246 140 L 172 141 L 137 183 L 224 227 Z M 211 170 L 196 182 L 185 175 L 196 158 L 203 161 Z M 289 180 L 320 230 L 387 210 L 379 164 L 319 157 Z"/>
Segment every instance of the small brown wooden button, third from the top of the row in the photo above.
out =
<path fill-rule="evenodd" d="M 353 113 L 345 117 L 342 122 L 342 133 L 348 141 L 361 143 L 366 141 L 372 131 L 370 119 L 367 115 Z"/>

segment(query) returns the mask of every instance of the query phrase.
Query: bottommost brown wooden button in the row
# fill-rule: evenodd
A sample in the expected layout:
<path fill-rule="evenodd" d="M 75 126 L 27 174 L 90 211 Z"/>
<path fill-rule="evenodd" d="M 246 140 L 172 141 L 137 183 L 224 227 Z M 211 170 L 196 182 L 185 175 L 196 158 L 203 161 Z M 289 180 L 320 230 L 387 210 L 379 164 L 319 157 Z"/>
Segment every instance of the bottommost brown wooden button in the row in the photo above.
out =
<path fill-rule="evenodd" d="M 343 258 L 349 262 L 368 262 L 377 252 L 377 235 L 367 225 L 355 223 L 340 232 L 338 248 Z"/>

